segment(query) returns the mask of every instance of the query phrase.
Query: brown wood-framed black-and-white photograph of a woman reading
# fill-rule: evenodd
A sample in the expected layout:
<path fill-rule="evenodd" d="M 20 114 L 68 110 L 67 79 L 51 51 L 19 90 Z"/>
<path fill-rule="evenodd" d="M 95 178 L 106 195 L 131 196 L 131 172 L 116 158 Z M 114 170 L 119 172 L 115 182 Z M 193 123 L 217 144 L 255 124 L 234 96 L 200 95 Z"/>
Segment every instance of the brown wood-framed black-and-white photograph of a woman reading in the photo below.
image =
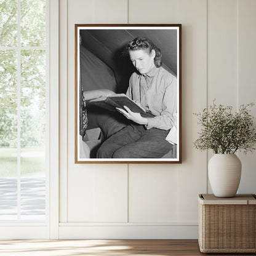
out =
<path fill-rule="evenodd" d="M 75 163 L 181 163 L 182 25 L 76 24 L 74 28 Z M 154 80 L 156 79 L 155 73 L 154 76 L 148 75 L 153 71 L 139 70 L 140 67 L 138 68 L 138 64 L 135 62 L 141 62 L 140 59 L 132 59 L 131 61 L 130 58 L 132 57 L 130 57 L 130 51 L 127 50 L 127 43 L 138 37 L 150 39 L 154 46 L 157 47 L 156 49 L 161 49 L 162 66 L 161 68 L 156 67 L 155 70 L 160 72 L 160 70 L 164 69 L 164 74 L 167 73 L 167 78 L 164 80 L 164 83 Z M 145 52 L 145 50 L 141 51 Z M 154 57 L 153 63 L 155 68 L 157 50 L 151 51 L 151 54 L 152 52 L 154 53 L 154 56 L 152 56 Z M 151 55 L 148 53 L 148 56 Z M 148 58 L 151 59 L 151 57 Z M 149 63 L 150 61 L 151 60 L 149 60 Z M 143 96 L 151 95 L 148 89 L 146 89 L 145 94 L 141 94 L 140 92 L 140 100 L 137 102 L 143 105 L 142 97 L 150 98 L 150 103 L 148 103 L 148 99 L 143 98 L 145 104 L 143 106 L 146 108 L 147 113 L 150 112 L 154 114 L 154 116 L 158 116 L 158 118 L 152 117 L 156 123 L 155 126 L 150 126 L 152 119 L 150 119 L 150 121 L 149 119 L 146 119 L 146 121 L 143 119 L 143 122 L 146 122 L 147 125 L 144 125 L 144 123 L 137 125 L 136 122 L 130 121 L 130 119 L 127 119 L 124 114 L 118 111 L 112 112 L 106 109 L 108 107 L 105 105 L 100 106 L 97 105 L 98 103 L 90 102 L 93 98 L 106 96 L 110 93 L 109 90 L 118 94 L 127 93 L 132 100 L 136 101 L 134 95 L 131 95 L 134 94 L 134 92 L 129 94 L 127 88 L 134 86 L 130 84 L 132 82 L 130 81 L 130 79 L 132 79 L 130 78 L 131 75 L 133 74 L 134 77 L 136 76 L 136 78 L 141 79 L 142 74 L 144 74 L 143 72 L 148 72 L 146 73 L 145 79 L 150 78 L 150 82 L 148 82 L 146 88 L 155 87 L 156 89 L 154 89 L 154 91 L 156 91 L 156 96 Z M 145 77 L 145 75 L 143 77 Z M 137 87 L 142 88 L 140 84 Z M 160 87 L 161 89 L 159 89 Z M 170 88 L 172 88 L 171 93 Z M 132 89 L 129 90 L 131 91 Z M 172 95 L 169 98 L 170 94 Z M 168 97 L 166 95 L 168 95 Z M 151 103 L 155 106 L 151 107 Z M 141 115 L 143 116 L 143 113 Z M 167 121 L 164 121 L 162 116 L 164 116 L 164 118 L 166 118 L 164 120 Z M 159 122 L 156 122 L 156 120 L 159 120 Z M 142 122 L 141 118 L 139 122 Z M 164 124 L 162 124 L 162 122 L 164 122 Z M 161 150 L 154 150 L 152 140 L 151 143 L 150 140 L 148 140 L 146 143 L 148 143 L 149 148 L 153 151 L 150 154 L 158 154 L 159 156 L 147 157 L 148 155 L 142 152 L 144 151 L 143 149 L 137 151 L 138 155 L 140 153 L 142 153 L 142 155 L 144 154 L 145 156 L 143 157 L 129 157 L 132 154 L 127 153 L 128 157 L 125 158 L 126 151 L 124 150 L 124 154 L 118 154 L 117 152 L 119 151 L 113 151 L 114 153 L 110 154 L 111 150 L 107 151 L 108 156 L 104 157 L 106 154 L 102 154 L 102 152 L 104 146 L 108 148 L 106 147 L 110 142 L 108 139 L 111 137 L 112 140 L 113 134 L 118 136 L 116 134 L 129 124 L 135 125 L 138 129 L 145 129 L 147 132 L 151 129 L 151 132 L 163 132 L 163 134 L 167 134 L 169 142 L 166 143 L 167 140 L 162 140 L 159 144 L 166 145 L 167 148 L 170 148 L 168 153 L 164 154 L 164 156 L 160 156 L 159 151 Z M 163 129 L 161 129 L 162 127 Z M 169 129 L 169 127 L 171 128 Z M 107 140 L 108 142 L 106 142 Z M 102 142 L 105 142 L 103 147 L 101 147 Z M 119 141 L 116 143 L 116 146 L 118 144 Z M 115 158 L 115 156 L 118 157 Z"/>

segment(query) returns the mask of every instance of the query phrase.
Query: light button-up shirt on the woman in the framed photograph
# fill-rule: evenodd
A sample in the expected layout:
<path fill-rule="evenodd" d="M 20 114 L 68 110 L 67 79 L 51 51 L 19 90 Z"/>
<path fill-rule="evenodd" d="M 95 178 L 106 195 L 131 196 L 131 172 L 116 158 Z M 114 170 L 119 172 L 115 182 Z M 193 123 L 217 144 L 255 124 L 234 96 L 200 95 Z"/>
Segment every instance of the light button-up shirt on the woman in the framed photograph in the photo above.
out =
<path fill-rule="evenodd" d="M 169 130 L 177 115 L 177 78 L 164 68 L 154 66 L 147 74 L 130 76 L 126 95 L 138 101 L 154 118 L 147 118 L 146 129 Z"/>

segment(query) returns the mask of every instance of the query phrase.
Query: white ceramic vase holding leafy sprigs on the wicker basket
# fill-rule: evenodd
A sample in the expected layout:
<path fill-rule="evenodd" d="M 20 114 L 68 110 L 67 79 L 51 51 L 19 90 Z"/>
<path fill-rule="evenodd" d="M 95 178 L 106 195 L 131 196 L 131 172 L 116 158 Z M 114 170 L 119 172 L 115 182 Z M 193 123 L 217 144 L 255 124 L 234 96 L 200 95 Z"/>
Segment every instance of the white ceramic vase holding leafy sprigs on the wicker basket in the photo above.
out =
<path fill-rule="evenodd" d="M 212 191 L 218 198 L 232 198 L 238 191 L 242 164 L 236 154 L 214 154 L 208 163 Z"/>

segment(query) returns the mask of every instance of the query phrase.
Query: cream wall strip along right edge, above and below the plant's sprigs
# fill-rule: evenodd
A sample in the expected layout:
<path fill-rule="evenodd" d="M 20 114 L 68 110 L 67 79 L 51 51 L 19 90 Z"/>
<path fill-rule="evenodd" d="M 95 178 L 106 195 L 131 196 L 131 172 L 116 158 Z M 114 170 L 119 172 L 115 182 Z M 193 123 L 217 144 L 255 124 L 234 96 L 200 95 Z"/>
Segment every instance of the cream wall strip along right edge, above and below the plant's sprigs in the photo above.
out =
<path fill-rule="evenodd" d="M 256 1 L 239 1 L 238 4 L 238 103 L 256 103 Z M 256 118 L 256 106 L 251 112 Z M 256 154 L 239 154 L 242 161 L 240 193 L 256 192 Z M 254 160 L 252 160 L 254 159 Z"/>

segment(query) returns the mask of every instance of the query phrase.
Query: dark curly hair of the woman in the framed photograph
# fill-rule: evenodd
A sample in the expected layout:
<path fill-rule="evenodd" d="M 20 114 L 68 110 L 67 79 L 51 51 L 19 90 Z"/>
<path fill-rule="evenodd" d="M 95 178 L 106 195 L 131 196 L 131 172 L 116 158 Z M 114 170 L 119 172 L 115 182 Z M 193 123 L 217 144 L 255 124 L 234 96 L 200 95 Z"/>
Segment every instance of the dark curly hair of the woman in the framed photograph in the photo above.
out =
<path fill-rule="evenodd" d="M 161 50 L 148 38 L 134 38 L 132 41 L 128 42 L 126 49 L 130 50 L 148 50 L 148 53 L 151 54 L 152 50 L 156 52 L 154 57 L 154 65 L 159 68 L 162 66 L 162 53 Z"/>

